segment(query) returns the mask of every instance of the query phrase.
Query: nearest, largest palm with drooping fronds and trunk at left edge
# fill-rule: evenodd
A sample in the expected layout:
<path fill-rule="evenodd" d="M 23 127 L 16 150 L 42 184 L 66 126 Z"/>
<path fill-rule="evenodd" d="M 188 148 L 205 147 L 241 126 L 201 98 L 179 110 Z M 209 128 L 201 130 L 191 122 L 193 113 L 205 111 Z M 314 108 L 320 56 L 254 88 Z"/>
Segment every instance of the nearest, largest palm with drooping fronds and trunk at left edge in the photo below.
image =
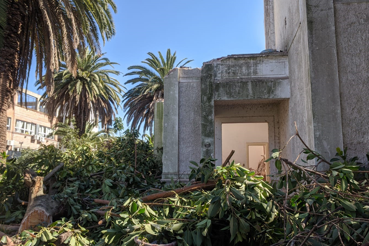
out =
<path fill-rule="evenodd" d="M 77 73 L 76 49 L 100 52 L 115 34 L 113 0 L 0 0 L 0 151 L 6 149 L 6 111 L 19 87 L 27 85 L 32 56 L 46 91 L 53 91 L 59 60 Z"/>

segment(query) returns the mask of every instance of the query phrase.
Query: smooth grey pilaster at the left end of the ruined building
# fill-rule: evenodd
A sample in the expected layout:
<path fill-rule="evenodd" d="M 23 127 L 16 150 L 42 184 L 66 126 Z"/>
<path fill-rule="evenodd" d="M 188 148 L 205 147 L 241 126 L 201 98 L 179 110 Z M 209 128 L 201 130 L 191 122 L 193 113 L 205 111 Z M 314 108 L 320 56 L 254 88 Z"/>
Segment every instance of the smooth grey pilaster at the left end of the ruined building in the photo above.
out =
<path fill-rule="evenodd" d="M 164 80 L 163 107 L 163 181 L 178 179 L 178 69 Z"/>

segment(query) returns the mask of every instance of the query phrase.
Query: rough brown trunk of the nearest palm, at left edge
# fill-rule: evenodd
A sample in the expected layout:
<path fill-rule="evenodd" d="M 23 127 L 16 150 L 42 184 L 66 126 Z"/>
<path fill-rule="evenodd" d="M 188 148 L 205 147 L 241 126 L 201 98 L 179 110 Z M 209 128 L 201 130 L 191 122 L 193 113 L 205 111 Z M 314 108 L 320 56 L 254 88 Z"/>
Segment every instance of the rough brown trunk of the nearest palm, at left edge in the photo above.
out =
<path fill-rule="evenodd" d="M 21 43 L 21 18 L 19 1 L 9 1 L 7 25 L 4 30 L 4 44 L 0 48 L 0 151 L 6 150 L 7 110 L 11 98 L 18 89 L 18 62 Z"/>

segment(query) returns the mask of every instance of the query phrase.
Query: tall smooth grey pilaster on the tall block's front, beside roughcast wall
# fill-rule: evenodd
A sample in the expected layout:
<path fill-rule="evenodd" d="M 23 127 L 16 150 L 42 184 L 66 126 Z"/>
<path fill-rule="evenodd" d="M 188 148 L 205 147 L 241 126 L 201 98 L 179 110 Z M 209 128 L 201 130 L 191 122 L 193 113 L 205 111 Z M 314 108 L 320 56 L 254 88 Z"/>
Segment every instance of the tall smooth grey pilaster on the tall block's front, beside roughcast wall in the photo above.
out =
<path fill-rule="evenodd" d="M 328 160 L 342 148 L 333 0 L 306 0 L 315 150 Z"/>

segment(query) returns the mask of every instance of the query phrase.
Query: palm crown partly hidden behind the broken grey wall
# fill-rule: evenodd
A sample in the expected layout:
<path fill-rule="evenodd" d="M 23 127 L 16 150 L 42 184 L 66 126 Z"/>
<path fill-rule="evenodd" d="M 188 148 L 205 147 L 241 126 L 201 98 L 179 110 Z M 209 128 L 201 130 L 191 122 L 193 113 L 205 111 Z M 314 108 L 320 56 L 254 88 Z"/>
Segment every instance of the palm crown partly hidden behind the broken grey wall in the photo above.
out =
<path fill-rule="evenodd" d="M 131 122 L 131 128 L 140 128 L 144 124 L 143 131 L 149 129 L 152 133 L 153 119 L 154 119 L 154 104 L 158 100 L 164 98 L 164 77 L 174 67 L 178 67 L 184 60 L 182 59 L 176 66 L 176 52 L 173 55 L 170 53 L 170 49 L 166 51 L 166 59 L 159 51 L 159 58 L 154 53 L 147 53 L 150 58 L 145 59 L 142 63 L 149 67 L 142 65 L 135 65 L 128 67 L 128 70 L 132 70 L 126 75 L 136 75 L 133 79 L 127 80 L 125 84 L 137 84 L 132 89 L 128 90 L 123 96 L 125 108 L 124 118 L 127 117 L 127 122 Z M 193 60 L 187 60 L 182 66 L 186 65 Z"/>

